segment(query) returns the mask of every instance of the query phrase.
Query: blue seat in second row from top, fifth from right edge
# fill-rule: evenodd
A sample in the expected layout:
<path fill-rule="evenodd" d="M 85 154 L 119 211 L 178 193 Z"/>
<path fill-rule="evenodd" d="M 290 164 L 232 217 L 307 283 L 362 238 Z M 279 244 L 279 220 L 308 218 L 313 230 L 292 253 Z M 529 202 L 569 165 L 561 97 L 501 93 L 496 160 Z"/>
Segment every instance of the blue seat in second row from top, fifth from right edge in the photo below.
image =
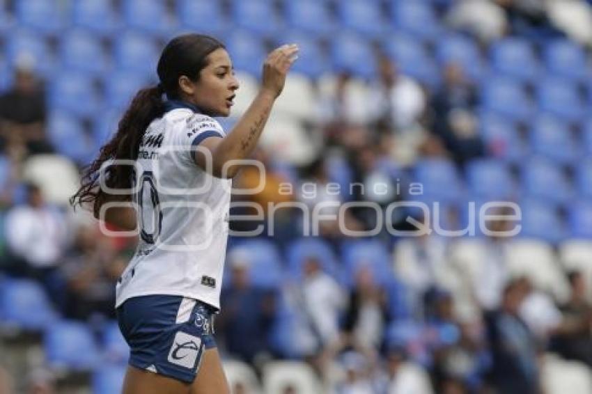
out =
<path fill-rule="evenodd" d="M 331 55 L 336 71 L 350 72 L 355 77 L 370 79 L 376 73 L 376 59 L 366 40 L 341 33 L 332 40 Z M 364 59 L 364 61 L 360 61 Z"/>

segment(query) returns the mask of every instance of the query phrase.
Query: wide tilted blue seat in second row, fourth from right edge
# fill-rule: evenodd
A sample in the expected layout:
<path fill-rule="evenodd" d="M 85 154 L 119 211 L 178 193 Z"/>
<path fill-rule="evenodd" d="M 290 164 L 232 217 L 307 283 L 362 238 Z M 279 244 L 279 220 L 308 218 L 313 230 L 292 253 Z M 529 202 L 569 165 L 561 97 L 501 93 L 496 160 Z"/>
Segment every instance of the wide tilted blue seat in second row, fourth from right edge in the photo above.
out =
<path fill-rule="evenodd" d="M 439 70 L 421 41 L 407 34 L 389 36 L 384 42 L 387 54 L 403 74 L 418 79 L 430 87 L 439 83 Z"/>

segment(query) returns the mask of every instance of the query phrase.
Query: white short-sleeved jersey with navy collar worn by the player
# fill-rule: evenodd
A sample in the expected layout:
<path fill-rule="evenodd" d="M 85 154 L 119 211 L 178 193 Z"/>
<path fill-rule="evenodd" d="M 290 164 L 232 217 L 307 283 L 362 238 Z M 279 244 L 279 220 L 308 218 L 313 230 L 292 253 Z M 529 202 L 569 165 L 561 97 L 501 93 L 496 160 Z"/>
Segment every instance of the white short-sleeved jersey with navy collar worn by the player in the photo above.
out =
<path fill-rule="evenodd" d="M 118 281 L 116 306 L 166 294 L 219 308 L 232 181 L 203 171 L 193 152 L 208 136 L 225 134 L 189 104 L 166 104 L 169 111 L 150 123 L 135 162 L 140 241 Z"/>

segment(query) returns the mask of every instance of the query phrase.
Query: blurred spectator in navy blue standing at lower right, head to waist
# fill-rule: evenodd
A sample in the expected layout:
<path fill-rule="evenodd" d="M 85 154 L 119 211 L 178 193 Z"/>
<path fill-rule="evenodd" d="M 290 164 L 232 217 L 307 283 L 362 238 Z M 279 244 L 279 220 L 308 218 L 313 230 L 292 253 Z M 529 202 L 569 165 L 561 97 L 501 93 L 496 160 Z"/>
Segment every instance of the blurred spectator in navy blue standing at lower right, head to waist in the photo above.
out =
<path fill-rule="evenodd" d="M 523 283 L 511 281 L 504 289 L 500 308 L 486 317 L 492 383 L 499 393 L 540 393 L 536 340 L 519 315 L 526 292 Z"/>

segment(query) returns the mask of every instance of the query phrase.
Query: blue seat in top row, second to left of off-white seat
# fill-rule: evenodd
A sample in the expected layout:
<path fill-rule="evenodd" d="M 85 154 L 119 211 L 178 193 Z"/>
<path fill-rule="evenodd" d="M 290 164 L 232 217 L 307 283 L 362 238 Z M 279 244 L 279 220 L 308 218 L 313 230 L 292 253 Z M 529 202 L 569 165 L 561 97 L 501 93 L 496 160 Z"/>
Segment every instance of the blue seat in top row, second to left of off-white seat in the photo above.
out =
<path fill-rule="evenodd" d="M 373 0 L 337 2 L 341 25 L 369 38 L 380 38 L 388 31 L 380 3 Z"/>

